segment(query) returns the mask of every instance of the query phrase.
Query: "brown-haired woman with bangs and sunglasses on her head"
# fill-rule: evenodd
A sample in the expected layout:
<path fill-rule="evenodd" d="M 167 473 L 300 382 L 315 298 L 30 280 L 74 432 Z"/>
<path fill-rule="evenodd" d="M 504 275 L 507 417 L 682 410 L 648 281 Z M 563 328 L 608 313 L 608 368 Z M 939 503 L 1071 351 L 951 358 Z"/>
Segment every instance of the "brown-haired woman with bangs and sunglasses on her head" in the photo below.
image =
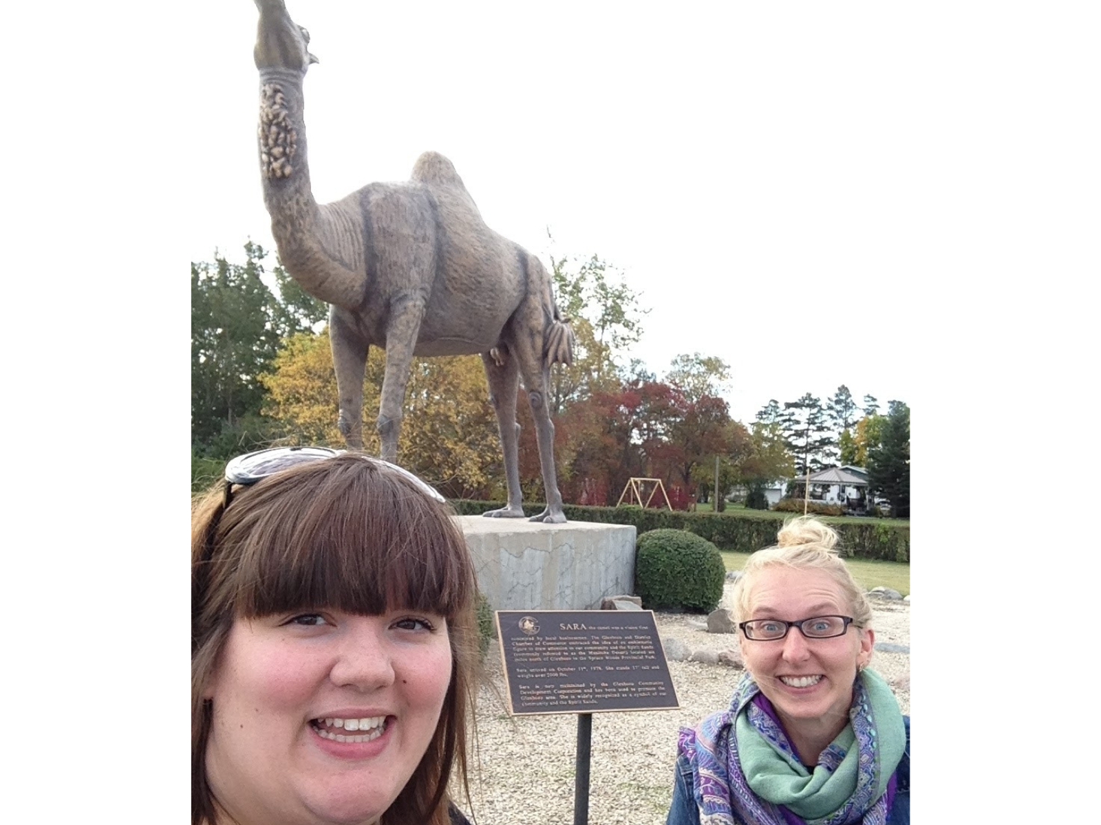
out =
<path fill-rule="evenodd" d="M 193 825 L 466 822 L 475 594 L 444 498 L 401 468 L 230 462 L 192 521 Z"/>

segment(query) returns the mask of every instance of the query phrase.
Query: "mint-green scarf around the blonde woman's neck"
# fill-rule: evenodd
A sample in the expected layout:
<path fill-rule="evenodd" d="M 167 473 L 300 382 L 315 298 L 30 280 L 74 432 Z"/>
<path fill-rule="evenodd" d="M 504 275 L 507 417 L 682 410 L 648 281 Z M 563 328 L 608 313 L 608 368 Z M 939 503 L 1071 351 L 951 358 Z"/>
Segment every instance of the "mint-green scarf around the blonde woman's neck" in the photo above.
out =
<path fill-rule="evenodd" d="M 886 791 L 906 747 L 906 728 L 883 679 L 864 670 L 853 684 L 849 724 L 808 771 L 782 729 L 766 713 L 744 702 L 734 721 L 738 757 L 757 796 L 814 825 L 852 801 L 874 801 Z"/>

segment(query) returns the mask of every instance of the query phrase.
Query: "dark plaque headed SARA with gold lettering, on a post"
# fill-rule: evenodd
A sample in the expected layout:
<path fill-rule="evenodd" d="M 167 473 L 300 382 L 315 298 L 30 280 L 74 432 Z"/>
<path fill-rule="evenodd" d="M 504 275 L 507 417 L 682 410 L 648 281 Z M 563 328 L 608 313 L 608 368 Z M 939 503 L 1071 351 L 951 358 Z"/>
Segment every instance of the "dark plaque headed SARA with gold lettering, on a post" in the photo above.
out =
<path fill-rule="evenodd" d="M 509 713 L 679 707 L 652 610 L 497 610 Z"/>

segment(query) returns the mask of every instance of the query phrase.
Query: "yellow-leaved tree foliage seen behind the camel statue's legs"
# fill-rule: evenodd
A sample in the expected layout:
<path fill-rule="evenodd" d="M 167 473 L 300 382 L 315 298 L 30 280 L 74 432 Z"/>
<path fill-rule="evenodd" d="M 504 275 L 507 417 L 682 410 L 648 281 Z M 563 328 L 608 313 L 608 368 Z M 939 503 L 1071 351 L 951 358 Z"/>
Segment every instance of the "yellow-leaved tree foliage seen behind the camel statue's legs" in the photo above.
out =
<path fill-rule="evenodd" d="M 373 420 L 385 372 L 385 353 L 371 348 L 363 381 L 364 449 L 378 453 Z M 328 331 L 288 338 L 271 373 L 261 376 L 264 415 L 299 443 L 342 447 L 337 429 L 337 382 Z M 402 466 L 445 491 L 469 497 L 500 481 L 501 446 L 481 359 L 453 355 L 414 360 L 405 391 L 397 457 Z"/>

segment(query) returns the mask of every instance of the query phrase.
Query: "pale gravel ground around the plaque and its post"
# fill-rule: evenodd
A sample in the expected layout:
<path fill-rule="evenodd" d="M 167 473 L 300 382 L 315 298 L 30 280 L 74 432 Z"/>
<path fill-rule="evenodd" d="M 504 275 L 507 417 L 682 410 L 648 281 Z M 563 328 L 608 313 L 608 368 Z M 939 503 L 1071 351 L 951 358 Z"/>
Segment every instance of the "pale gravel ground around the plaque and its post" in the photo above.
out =
<path fill-rule="evenodd" d="M 876 642 L 909 645 L 909 605 L 873 602 Z M 663 640 L 678 638 L 690 649 L 733 647 L 733 635 L 709 634 L 706 616 L 656 613 Z M 909 713 L 909 656 L 876 650 L 871 667 L 895 685 Z M 510 717 L 500 657 L 486 660 L 478 696 L 478 754 L 471 766 L 472 805 L 462 804 L 476 825 L 568 825 L 574 821 L 577 716 Z M 691 727 L 730 701 L 740 670 L 723 664 L 669 662 L 678 711 L 592 715 L 589 823 L 664 825 L 673 794 L 677 728 Z M 465 802 L 465 801 L 464 801 Z"/>

